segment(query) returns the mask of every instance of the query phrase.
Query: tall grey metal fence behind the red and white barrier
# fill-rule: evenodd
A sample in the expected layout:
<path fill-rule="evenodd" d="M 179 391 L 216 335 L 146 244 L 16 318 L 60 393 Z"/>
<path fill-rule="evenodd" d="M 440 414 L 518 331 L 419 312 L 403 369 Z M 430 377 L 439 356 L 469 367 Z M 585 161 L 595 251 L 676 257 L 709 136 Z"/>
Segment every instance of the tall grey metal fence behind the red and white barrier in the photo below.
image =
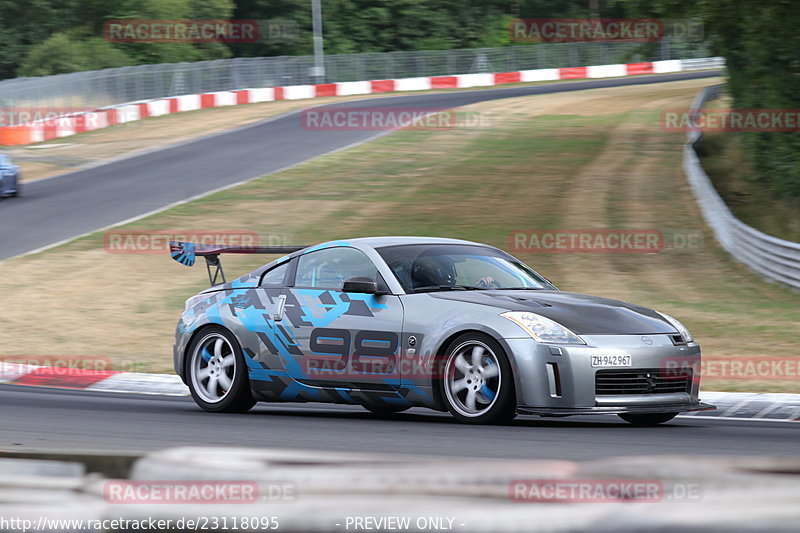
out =
<path fill-rule="evenodd" d="M 537 68 L 707 57 L 704 43 L 585 42 L 534 46 L 328 55 L 325 76 L 313 56 L 233 58 L 140 65 L 0 81 L 0 106 L 98 108 L 181 94 L 309 83 L 511 72 Z"/>

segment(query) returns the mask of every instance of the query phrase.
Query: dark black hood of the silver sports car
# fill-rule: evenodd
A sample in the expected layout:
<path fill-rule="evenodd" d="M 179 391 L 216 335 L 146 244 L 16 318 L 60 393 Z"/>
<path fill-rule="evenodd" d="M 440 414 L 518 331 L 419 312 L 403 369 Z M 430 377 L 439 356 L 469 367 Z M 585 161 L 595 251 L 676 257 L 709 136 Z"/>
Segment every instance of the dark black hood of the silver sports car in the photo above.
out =
<path fill-rule="evenodd" d="M 675 328 L 652 309 L 618 300 L 561 291 L 459 291 L 428 293 L 504 311 L 529 311 L 555 320 L 578 335 L 658 335 Z"/>

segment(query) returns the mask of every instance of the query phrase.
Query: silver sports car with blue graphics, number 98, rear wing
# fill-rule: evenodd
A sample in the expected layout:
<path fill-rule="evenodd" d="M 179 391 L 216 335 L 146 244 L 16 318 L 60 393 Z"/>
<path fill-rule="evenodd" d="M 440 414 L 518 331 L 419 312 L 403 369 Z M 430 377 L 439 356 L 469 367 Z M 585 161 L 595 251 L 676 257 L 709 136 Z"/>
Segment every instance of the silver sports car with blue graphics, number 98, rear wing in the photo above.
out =
<path fill-rule="evenodd" d="M 226 282 L 224 253 L 288 254 Z M 461 422 L 615 413 L 633 424 L 713 409 L 700 346 L 674 318 L 561 292 L 491 246 L 372 237 L 310 247 L 171 243 L 212 287 L 178 322 L 175 371 L 207 411 L 257 401 L 411 407 Z M 221 281 L 221 283 L 217 283 Z"/>

